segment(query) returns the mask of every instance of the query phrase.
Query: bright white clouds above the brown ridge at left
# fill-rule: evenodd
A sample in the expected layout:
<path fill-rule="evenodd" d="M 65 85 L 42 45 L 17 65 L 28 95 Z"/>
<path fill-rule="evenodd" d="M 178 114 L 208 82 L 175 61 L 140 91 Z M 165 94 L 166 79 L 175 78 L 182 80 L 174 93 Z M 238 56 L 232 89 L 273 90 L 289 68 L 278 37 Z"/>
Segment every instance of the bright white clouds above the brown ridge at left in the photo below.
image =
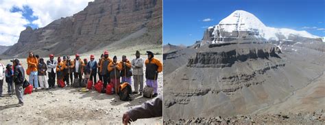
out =
<path fill-rule="evenodd" d="M 32 23 L 38 27 L 45 27 L 53 20 L 61 17 L 73 16 L 82 11 L 89 1 L 94 0 L 3 0 L 0 1 L 0 45 L 9 46 L 15 44 L 19 34 L 25 29 L 24 25 Z M 29 22 L 23 17 L 22 12 L 10 12 L 13 7 L 23 10 L 28 6 L 33 10 L 37 20 Z"/>

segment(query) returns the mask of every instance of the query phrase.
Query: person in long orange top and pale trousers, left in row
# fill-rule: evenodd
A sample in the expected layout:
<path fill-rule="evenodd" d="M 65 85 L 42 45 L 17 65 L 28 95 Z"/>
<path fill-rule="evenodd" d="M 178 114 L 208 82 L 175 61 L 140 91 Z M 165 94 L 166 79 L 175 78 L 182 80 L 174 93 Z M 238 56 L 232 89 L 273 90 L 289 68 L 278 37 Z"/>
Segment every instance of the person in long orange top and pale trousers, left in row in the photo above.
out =
<path fill-rule="evenodd" d="M 38 59 L 34 57 L 33 52 L 29 52 L 27 57 L 27 74 L 29 74 L 29 83 L 34 85 L 35 91 L 37 92 L 38 88 Z"/>

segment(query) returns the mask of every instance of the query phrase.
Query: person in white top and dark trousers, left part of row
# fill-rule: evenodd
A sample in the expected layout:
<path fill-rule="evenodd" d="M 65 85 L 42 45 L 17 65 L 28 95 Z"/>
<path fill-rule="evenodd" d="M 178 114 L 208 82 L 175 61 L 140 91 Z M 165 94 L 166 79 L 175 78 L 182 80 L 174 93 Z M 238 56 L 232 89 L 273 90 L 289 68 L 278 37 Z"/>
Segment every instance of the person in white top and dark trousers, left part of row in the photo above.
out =
<path fill-rule="evenodd" d="M 49 74 L 49 89 L 56 88 L 56 66 L 58 65 L 58 61 L 54 60 L 54 55 L 49 55 L 49 60 L 47 60 L 47 72 Z"/>

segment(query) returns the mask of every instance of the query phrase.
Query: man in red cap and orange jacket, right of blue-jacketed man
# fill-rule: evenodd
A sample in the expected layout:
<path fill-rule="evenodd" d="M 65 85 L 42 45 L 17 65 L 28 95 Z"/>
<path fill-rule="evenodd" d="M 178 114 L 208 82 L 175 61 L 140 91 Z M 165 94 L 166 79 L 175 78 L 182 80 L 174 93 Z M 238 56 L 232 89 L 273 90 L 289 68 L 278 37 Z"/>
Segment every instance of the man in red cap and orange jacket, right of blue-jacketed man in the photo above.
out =
<path fill-rule="evenodd" d="M 110 72 L 108 71 L 108 65 L 112 62 L 112 59 L 108 57 L 108 51 L 104 52 L 104 57 L 101 58 L 99 72 L 103 77 L 104 88 L 106 88 L 107 83 L 110 83 Z"/>

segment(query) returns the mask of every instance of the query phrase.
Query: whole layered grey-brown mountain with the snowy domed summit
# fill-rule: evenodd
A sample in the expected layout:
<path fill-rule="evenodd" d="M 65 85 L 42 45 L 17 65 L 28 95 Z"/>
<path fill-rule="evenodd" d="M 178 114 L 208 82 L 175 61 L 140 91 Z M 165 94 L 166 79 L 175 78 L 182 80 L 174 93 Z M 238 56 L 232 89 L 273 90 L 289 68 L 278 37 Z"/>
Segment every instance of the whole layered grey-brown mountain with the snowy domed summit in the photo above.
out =
<path fill-rule="evenodd" d="M 221 24 L 237 19 L 228 17 Z M 243 18 L 242 23 L 264 27 L 256 18 Z M 230 26 L 208 28 L 217 31 L 217 36 L 205 31 L 202 40 L 186 48 L 164 46 L 165 123 L 193 123 L 189 121 L 197 117 L 208 121 L 209 117 L 325 109 L 323 93 L 313 87 L 322 86 L 322 82 L 315 83 L 320 81 L 317 79 L 325 79 L 324 42 L 303 34 L 293 35 L 295 31 L 288 35 L 289 39 L 293 37 L 291 40 L 270 41 L 260 35 L 259 29 L 239 27 L 243 31 L 229 32 L 226 28 L 233 28 Z M 256 32 L 250 35 L 250 31 Z M 236 37 L 232 37 L 235 33 Z M 244 33 L 247 36 L 242 37 Z M 311 97 L 302 98 L 304 92 Z"/>

